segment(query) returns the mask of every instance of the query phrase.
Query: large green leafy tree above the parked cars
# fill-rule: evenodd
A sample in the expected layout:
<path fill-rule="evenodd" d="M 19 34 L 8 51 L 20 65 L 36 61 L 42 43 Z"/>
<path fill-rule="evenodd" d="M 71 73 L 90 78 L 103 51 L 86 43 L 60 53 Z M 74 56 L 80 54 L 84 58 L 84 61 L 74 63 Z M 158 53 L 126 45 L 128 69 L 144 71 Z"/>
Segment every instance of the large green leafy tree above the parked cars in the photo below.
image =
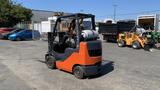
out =
<path fill-rule="evenodd" d="M 12 0 L 0 0 L 0 27 L 12 27 L 19 22 L 30 21 L 32 11 Z"/>

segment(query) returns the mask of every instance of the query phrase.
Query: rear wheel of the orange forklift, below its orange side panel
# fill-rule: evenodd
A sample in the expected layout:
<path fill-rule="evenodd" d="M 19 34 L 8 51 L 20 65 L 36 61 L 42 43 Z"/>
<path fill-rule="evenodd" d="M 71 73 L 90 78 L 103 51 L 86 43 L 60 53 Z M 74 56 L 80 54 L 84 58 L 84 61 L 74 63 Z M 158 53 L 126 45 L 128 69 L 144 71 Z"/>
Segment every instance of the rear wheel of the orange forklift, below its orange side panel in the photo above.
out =
<path fill-rule="evenodd" d="M 75 66 L 73 69 L 73 74 L 78 79 L 84 78 L 84 70 L 81 66 Z"/>

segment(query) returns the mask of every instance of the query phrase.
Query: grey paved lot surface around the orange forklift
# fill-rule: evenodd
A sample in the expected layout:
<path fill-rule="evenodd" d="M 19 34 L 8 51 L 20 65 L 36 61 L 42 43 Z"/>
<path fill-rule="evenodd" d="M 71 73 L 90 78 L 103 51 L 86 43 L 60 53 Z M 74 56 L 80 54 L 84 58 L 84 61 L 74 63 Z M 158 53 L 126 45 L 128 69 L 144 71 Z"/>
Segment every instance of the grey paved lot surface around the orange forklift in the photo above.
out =
<path fill-rule="evenodd" d="M 0 41 L 0 90 L 160 90 L 160 50 L 103 42 L 102 74 L 76 79 L 44 63 L 45 41 Z"/>

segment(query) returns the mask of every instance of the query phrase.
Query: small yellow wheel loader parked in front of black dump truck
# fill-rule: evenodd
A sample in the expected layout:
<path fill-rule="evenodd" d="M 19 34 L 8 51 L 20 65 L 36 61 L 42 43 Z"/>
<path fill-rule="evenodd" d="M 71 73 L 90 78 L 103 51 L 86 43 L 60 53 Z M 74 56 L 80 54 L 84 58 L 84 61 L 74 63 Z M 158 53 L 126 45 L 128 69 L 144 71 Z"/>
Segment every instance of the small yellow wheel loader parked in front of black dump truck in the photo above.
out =
<path fill-rule="evenodd" d="M 144 48 L 149 51 L 154 46 L 154 41 L 149 40 L 146 34 L 140 36 L 136 32 L 120 33 L 117 42 L 119 47 L 132 46 L 133 49 Z"/>

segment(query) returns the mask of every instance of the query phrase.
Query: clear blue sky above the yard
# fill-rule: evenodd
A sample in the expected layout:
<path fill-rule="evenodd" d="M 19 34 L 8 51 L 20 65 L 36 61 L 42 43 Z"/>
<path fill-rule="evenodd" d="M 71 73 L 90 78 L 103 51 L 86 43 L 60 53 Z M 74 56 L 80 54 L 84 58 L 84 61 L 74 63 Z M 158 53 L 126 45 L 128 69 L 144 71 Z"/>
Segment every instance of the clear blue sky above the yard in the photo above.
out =
<path fill-rule="evenodd" d="M 160 0 L 14 0 L 23 6 L 36 10 L 61 11 L 69 13 L 91 13 L 96 20 L 113 19 L 116 5 L 116 19 L 136 19 L 138 15 L 160 13 Z"/>

